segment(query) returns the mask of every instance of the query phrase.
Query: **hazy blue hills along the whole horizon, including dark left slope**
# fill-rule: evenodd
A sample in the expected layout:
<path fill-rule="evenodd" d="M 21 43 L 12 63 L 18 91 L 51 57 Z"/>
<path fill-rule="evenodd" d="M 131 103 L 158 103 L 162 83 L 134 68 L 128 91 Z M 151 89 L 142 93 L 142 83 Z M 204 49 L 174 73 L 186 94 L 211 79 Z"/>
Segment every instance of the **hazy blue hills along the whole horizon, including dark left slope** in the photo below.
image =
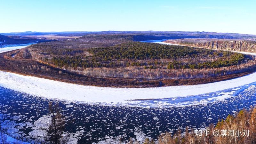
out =
<path fill-rule="evenodd" d="M 4 36 L 5 35 L 5 36 Z M 10 36 L 10 37 L 7 37 Z M 47 37 L 48 36 L 48 37 Z M 75 36 L 80 41 L 83 39 L 110 40 L 120 39 L 124 41 L 148 41 L 160 39 L 241 39 L 255 41 L 256 35 L 216 32 L 187 32 L 187 31 L 99 31 L 99 32 L 18 32 L 0 33 L 0 44 L 25 44 L 30 42 L 45 42 L 52 38 L 64 37 L 73 39 Z M 46 40 L 48 39 L 48 40 Z M 75 40 L 76 41 L 76 40 Z"/>

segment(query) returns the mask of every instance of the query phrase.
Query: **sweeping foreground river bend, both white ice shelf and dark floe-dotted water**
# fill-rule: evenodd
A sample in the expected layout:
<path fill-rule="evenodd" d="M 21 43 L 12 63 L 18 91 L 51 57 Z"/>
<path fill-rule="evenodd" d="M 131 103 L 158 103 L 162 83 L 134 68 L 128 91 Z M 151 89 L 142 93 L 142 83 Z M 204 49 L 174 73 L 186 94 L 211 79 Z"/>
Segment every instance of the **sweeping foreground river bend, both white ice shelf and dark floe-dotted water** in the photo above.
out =
<path fill-rule="evenodd" d="M 0 48 L 0 51 L 1 49 L 4 48 Z M 70 95 L 60 97 L 61 95 L 51 90 L 54 88 L 52 85 L 46 85 L 48 83 L 40 78 L 34 79 L 34 77 L 23 77 L 0 71 L 0 121 L 6 134 L 33 143 L 33 137 L 38 134 L 38 131 L 35 131 L 38 126 L 35 121 L 45 119 L 48 113 L 49 99 L 59 99 L 55 101 L 59 101 L 61 104 L 68 123 L 67 132 L 73 136 L 74 143 L 76 140 L 77 143 L 115 141 L 120 137 L 124 140 L 128 140 L 130 137 L 156 138 L 161 132 L 172 132 L 178 128 L 184 129 L 186 126 L 191 129 L 203 128 L 211 123 L 216 123 L 219 118 L 236 113 L 237 110 L 255 105 L 256 79 L 254 75 L 255 73 L 241 77 L 242 79 L 224 81 L 223 84 L 228 84 L 226 87 L 220 85 L 224 89 L 216 88 L 220 84 L 218 82 L 217 84 L 212 83 L 213 87 L 210 87 L 211 84 L 208 87 L 207 84 L 196 87 L 166 87 L 149 95 L 156 100 L 132 101 L 135 98 L 138 99 L 137 97 L 147 98 L 148 95 L 140 96 L 139 94 L 145 93 L 149 88 L 146 88 L 145 91 L 142 89 L 141 93 L 140 89 L 116 90 L 113 88 L 115 93 L 113 95 L 111 88 L 97 87 L 97 91 L 93 89 L 94 93 L 84 95 L 85 98 L 98 97 L 89 101 L 87 98 L 77 100 L 76 97 L 71 98 L 74 96 Z M 70 86 L 59 82 L 52 84 L 57 84 L 56 87 L 64 86 L 64 89 Z M 39 88 L 34 89 L 33 85 Z M 78 90 L 82 91 L 84 87 L 86 86 L 71 85 L 68 90 L 75 93 Z M 93 87 L 86 88 L 84 89 L 88 89 L 89 92 L 89 89 Z M 175 89 L 177 89 L 177 94 L 171 91 Z M 190 90 L 191 93 L 184 92 L 179 95 L 178 93 L 183 89 Z M 47 93 L 48 90 L 51 91 Z M 54 90 L 61 89 L 54 88 Z M 85 90 L 84 93 L 87 92 Z M 98 94 L 97 92 L 100 90 L 103 92 Z M 130 92 L 132 96 L 125 97 L 125 92 L 119 93 L 124 90 Z M 133 90 L 136 91 L 132 92 Z M 193 90 L 197 90 L 197 92 L 193 93 Z M 107 91 L 108 93 L 106 93 Z M 51 92 L 53 94 L 50 94 Z M 163 92 L 167 93 L 164 97 L 161 96 Z M 111 100 L 108 95 L 113 99 L 117 97 L 118 100 Z M 123 95 L 125 99 L 119 98 Z M 108 97 L 110 100 L 104 101 L 104 97 Z"/>

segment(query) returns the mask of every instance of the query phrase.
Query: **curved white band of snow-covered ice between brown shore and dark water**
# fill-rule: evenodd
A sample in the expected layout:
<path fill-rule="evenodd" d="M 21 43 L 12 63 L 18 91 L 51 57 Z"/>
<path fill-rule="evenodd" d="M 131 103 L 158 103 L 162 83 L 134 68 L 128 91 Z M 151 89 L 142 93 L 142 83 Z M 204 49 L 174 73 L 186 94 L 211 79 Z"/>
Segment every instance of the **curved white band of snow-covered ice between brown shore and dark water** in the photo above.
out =
<path fill-rule="evenodd" d="M 25 47 L 25 46 L 23 46 Z M 20 46 L 19 48 L 22 48 Z M 4 49 L 4 48 L 1 48 Z M 0 49 L 0 52 L 2 52 Z M 7 50 L 10 48 L 6 47 Z M 18 49 L 18 48 L 17 48 Z M 195 97 L 201 94 L 223 91 L 241 87 L 242 85 L 254 83 L 256 73 L 231 80 L 220 81 L 209 84 L 168 86 L 155 88 L 112 88 L 84 86 L 53 81 L 33 76 L 23 76 L 10 72 L 0 71 L 0 86 L 19 92 L 35 95 L 48 99 L 59 99 L 70 102 L 113 105 L 113 106 L 139 106 L 146 108 L 161 108 L 165 104 L 164 99 L 175 99 L 188 103 L 187 97 Z M 249 86 L 249 85 L 248 85 Z M 220 101 L 232 97 L 233 93 L 220 92 L 220 95 L 208 96 L 203 100 L 189 102 L 191 105 L 204 104 Z M 147 104 L 148 99 L 153 103 Z M 182 100 L 184 99 L 184 100 Z M 183 103 L 173 103 L 171 106 L 183 106 Z M 185 105 L 188 106 L 188 105 Z"/>

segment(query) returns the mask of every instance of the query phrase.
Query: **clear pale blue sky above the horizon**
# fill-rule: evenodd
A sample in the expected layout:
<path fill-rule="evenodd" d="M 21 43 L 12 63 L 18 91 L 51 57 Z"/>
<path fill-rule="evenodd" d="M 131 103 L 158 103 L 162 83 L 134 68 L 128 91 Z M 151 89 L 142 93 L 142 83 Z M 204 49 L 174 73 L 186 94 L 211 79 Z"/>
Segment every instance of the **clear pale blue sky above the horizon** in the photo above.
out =
<path fill-rule="evenodd" d="M 256 34 L 256 0 L 0 0 L 0 33 L 214 31 Z"/>

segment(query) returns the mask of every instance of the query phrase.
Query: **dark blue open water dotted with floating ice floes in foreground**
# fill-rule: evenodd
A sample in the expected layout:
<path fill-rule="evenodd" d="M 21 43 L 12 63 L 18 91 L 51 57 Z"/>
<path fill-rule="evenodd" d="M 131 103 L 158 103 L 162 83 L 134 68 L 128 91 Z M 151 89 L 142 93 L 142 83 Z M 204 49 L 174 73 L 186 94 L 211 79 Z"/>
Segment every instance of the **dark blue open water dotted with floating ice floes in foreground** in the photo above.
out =
<path fill-rule="evenodd" d="M 251 85 L 251 86 L 250 86 Z M 156 138 L 161 132 L 204 128 L 228 114 L 256 104 L 256 87 L 250 84 L 234 97 L 221 102 L 173 108 L 95 106 L 59 101 L 67 121 L 67 132 L 78 143 L 109 138 Z M 57 100 L 53 100 L 57 101 Z M 6 134 L 33 143 L 29 136 L 34 122 L 48 114 L 48 99 L 0 87 L 0 121 Z"/>

